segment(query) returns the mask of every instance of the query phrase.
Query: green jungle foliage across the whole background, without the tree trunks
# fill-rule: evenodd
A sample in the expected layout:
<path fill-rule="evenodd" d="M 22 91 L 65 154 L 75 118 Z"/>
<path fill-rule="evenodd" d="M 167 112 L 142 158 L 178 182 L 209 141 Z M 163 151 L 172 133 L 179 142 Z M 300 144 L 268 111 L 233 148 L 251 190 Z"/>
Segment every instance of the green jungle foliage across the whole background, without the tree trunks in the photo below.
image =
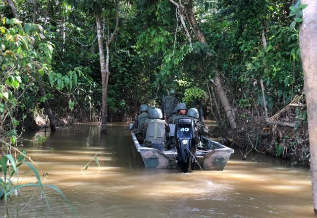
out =
<path fill-rule="evenodd" d="M 23 8 L 23 3 L 25 1 L 17 1 L 17 7 Z M 5 86 L 9 89 L 0 91 L 0 113 L 6 111 L 8 104 L 23 113 L 32 112 L 48 100 L 59 114 L 71 109 L 74 115 L 88 112 L 99 116 L 102 79 L 95 13 L 109 21 L 111 32 L 114 1 L 68 3 L 56 2 L 52 7 L 41 5 L 38 14 L 48 11 L 48 19 L 39 19 L 39 24 L 31 24 L 33 10 L 28 5 L 23 9 L 25 23 L 7 19 L 6 25 L 1 25 L 1 36 L 8 34 L 7 29 L 11 28 L 11 36 L 5 41 L 18 45 L 12 46 L 13 50 L 3 43 L 0 45 L 1 57 L 7 58 L 1 67 L 6 69 L 10 63 L 14 66 L 13 59 L 22 56 L 23 69 L 28 69 L 35 78 L 41 76 L 47 95 L 39 98 L 33 77 L 15 70 L 5 77 Z M 158 106 L 170 87 L 177 89 L 179 99 L 190 104 L 203 96 L 208 100 L 206 81 L 213 79 L 215 67 L 220 70 L 223 86 L 230 91 L 227 93 L 230 103 L 236 108 L 251 110 L 264 106 L 261 80 L 269 114 L 302 93 L 299 35 L 289 24 L 293 17 L 294 22 L 302 21 L 306 5 L 299 1 L 289 7 L 285 0 L 196 0 L 192 3 L 207 44 L 197 42 L 185 19 L 192 39 L 189 44 L 180 20 L 176 21 L 176 7 L 169 0 L 119 1 L 118 34 L 109 54 L 110 120 L 133 116 L 143 103 Z M 103 10 L 94 10 L 96 7 Z M 45 27 L 44 32 L 41 25 Z M 20 29 L 30 38 L 20 34 Z M 107 38 L 107 25 L 103 30 Z M 13 37 L 16 34 L 21 37 Z M 32 65 L 34 60 L 41 67 Z M 13 100 L 17 90 L 25 91 L 20 102 Z M 206 100 L 204 104 L 209 104 Z M 304 108 L 296 111 L 296 116 L 303 121 L 307 119 Z M 11 126 L 21 125 L 21 117 L 10 118 Z M 13 135 L 8 141 L 17 140 Z"/>

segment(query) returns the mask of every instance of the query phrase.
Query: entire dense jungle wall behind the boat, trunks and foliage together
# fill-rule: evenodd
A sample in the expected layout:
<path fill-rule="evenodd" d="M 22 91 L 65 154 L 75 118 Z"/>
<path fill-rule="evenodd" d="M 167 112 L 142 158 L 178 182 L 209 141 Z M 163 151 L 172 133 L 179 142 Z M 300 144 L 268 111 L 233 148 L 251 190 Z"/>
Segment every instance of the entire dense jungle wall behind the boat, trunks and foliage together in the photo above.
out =
<path fill-rule="evenodd" d="M 52 130 L 55 122 L 76 118 L 101 122 L 106 133 L 107 121 L 133 119 L 141 104 L 159 107 L 175 88 L 189 107 L 202 104 L 220 135 L 228 128 L 247 132 L 241 146 L 253 141 L 257 148 L 259 134 L 270 132 L 264 141 L 273 154 L 299 149 L 293 156 L 308 161 L 298 25 L 306 6 L 1 1 L 1 134 L 15 143 L 16 128 L 32 128 L 34 117 L 47 115 Z"/>

